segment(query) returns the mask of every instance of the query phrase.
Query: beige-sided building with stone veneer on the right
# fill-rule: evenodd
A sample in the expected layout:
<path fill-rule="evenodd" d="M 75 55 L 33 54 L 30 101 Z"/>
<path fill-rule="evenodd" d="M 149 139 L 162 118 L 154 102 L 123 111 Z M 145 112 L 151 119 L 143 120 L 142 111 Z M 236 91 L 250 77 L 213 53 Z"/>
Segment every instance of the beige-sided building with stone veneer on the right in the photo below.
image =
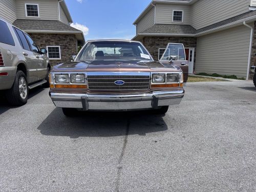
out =
<path fill-rule="evenodd" d="M 189 73 L 250 78 L 256 54 L 256 1 L 153 0 L 135 20 L 134 40 L 160 59 L 168 42 L 183 43 Z"/>

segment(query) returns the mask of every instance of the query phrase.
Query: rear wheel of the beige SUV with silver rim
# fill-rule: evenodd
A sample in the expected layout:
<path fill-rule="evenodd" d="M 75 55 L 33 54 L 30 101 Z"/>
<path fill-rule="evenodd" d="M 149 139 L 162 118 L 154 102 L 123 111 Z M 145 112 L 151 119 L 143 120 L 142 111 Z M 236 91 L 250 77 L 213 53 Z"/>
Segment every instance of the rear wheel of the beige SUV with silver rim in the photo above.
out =
<path fill-rule="evenodd" d="M 6 91 L 6 99 L 12 105 L 24 105 L 28 101 L 28 93 L 27 77 L 23 71 L 17 71 L 12 88 Z"/>

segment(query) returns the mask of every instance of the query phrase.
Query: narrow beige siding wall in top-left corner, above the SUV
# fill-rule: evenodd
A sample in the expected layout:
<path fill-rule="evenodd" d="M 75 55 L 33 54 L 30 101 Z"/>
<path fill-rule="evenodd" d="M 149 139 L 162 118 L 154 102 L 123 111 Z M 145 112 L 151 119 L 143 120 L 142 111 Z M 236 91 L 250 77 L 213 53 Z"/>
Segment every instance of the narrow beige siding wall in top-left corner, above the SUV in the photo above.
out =
<path fill-rule="evenodd" d="M 15 0 L 0 0 L 0 17 L 11 24 L 16 20 Z"/>

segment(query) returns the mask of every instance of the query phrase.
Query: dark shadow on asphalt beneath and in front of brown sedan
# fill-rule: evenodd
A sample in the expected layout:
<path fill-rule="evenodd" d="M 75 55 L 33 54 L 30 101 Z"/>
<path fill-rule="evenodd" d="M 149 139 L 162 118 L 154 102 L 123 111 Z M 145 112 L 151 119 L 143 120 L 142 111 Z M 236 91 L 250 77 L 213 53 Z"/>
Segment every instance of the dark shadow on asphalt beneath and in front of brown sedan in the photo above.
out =
<path fill-rule="evenodd" d="M 115 137 L 162 132 L 168 129 L 161 115 L 151 111 L 78 112 L 66 117 L 55 108 L 38 126 L 42 135 L 79 137 Z"/>

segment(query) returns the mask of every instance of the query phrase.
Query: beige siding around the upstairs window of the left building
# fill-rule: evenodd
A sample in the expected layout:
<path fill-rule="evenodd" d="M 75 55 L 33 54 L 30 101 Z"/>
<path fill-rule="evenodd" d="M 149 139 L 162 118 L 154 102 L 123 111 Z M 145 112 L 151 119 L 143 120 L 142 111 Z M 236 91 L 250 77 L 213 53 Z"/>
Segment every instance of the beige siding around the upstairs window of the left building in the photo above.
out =
<path fill-rule="evenodd" d="M 25 4 L 38 4 L 39 18 L 26 17 Z M 57 0 L 16 0 L 16 15 L 18 19 L 59 20 Z"/>

